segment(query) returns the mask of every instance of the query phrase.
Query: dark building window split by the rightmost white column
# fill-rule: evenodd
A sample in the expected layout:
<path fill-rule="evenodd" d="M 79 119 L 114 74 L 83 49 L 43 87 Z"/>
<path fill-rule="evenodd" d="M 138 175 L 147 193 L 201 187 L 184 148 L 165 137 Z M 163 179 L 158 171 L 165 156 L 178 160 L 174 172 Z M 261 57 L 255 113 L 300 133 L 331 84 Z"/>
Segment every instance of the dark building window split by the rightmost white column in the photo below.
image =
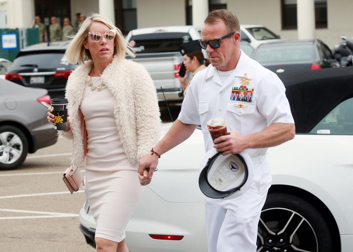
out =
<path fill-rule="evenodd" d="M 327 0 L 315 1 L 315 28 L 327 28 Z M 282 30 L 297 29 L 297 0 L 281 0 Z"/>

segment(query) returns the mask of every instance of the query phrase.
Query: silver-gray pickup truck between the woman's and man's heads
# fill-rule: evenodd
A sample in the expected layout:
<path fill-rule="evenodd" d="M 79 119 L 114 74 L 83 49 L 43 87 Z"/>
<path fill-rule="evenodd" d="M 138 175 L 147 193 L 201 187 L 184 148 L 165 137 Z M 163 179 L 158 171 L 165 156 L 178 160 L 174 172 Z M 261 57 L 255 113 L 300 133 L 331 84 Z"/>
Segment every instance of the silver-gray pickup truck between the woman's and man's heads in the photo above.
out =
<path fill-rule="evenodd" d="M 201 39 L 199 31 L 192 26 L 154 27 L 131 30 L 126 41 L 132 45 L 136 58 L 154 81 L 158 101 L 181 102 L 184 99 L 177 72 L 184 61 L 178 47 L 191 40 Z M 128 57 L 127 57 L 128 58 Z"/>

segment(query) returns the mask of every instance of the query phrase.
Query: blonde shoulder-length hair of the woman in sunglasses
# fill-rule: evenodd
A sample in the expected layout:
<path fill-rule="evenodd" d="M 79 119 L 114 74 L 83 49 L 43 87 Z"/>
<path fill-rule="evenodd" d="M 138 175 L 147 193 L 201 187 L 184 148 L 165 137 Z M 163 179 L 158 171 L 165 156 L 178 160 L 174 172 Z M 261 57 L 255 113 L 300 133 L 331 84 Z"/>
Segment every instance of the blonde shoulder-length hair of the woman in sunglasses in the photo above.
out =
<path fill-rule="evenodd" d="M 115 27 L 115 25 L 110 22 L 109 19 L 97 13 L 93 13 L 85 19 L 77 34 L 71 37 L 72 40 L 70 41 L 70 44 L 68 45 L 65 53 L 68 62 L 70 62 L 71 64 L 82 64 L 84 61 L 92 59 L 89 50 L 83 46 L 83 41 L 85 39 L 88 39 L 89 26 L 93 22 L 101 22 L 107 25 L 109 29 L 116 30 L 113 54 L 118 57 L 119 61 L 122 61 L 125 58 L 126 53 L 132 58 L 135 57 L 132 47 L 125 41 L 121 31 L 117 27 Z"/>

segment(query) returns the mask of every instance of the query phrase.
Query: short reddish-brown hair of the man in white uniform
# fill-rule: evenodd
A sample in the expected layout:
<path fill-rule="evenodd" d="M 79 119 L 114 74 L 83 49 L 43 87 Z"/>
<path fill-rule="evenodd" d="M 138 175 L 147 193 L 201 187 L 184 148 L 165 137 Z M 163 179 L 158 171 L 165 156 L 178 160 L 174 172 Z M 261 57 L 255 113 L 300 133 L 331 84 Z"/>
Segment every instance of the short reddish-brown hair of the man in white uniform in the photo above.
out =
<path fill-rule="evenodd" d="M 217 24 L 220 21 L 225 23 L 228 33 L 240 32 L 239 19 L 226 9 L 211 11 L 206 17 L 204 24 Z"/>

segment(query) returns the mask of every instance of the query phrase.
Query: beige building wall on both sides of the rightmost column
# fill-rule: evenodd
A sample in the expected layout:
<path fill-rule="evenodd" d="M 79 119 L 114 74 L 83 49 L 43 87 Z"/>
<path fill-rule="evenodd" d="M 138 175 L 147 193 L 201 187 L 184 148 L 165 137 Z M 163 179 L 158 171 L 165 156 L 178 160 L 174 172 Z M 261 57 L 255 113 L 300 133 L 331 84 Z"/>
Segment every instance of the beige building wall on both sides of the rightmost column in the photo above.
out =
<path fill-rule="evenodd" d="M 249 6 L 256 8 L 250 9 Z M 240 24 L 261 24 L 283 39 L 298 39 L 297 30 L 282 30 L 280 0 L 228 0 L 227 8 L 237 15 Z M 334 48 L 341 41 L 340 36 L 353 37 L 352 10 L 352 0 L 327 0 L 328 27 L 316 29 L 315 38 Z"/>

